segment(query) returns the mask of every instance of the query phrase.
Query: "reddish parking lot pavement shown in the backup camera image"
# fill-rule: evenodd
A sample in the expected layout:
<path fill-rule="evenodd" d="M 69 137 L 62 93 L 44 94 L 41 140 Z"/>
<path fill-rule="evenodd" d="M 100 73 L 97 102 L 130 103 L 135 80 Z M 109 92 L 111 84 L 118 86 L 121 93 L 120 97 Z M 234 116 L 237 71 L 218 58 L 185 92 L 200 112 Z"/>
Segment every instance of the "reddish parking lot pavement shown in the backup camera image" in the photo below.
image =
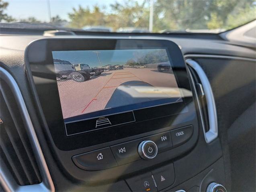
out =
<path fill-rule="evenodd" d="M 177 87 L 173 74 L 153 68 L 124 68 L 103 72 L 85 82 L 58 81 L 63 118 L 78 116 L 106 107 L 115 89 L 129 81 L 143 81 L 152 86 Z"/>

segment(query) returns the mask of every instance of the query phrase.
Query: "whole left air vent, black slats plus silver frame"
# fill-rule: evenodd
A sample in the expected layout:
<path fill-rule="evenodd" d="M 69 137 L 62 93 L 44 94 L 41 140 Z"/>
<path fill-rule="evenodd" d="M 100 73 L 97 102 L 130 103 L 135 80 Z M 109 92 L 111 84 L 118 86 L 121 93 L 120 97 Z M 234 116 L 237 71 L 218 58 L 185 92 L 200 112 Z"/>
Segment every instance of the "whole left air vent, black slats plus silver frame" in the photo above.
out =
<path fill-rule="evenodd" d="M 54 186 L 18 86 L 0 68 L 0 182 L 6 191 Z"/>

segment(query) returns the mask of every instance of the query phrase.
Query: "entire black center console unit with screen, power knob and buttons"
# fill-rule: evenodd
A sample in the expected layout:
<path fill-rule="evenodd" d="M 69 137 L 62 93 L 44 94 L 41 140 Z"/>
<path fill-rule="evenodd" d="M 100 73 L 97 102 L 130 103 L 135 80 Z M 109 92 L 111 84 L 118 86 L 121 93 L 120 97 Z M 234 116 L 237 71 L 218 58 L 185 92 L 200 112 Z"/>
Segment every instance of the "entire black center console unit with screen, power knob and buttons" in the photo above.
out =
<path fill-rule="evenodd" d="M 181 183 L 175 162 L 195 156 L 199 144 L 209 147 L 188 69 L 171 41 L 49 38 L 32 42 L 26 57 L 52 152 L 78 182 L 164 190 Z"/>

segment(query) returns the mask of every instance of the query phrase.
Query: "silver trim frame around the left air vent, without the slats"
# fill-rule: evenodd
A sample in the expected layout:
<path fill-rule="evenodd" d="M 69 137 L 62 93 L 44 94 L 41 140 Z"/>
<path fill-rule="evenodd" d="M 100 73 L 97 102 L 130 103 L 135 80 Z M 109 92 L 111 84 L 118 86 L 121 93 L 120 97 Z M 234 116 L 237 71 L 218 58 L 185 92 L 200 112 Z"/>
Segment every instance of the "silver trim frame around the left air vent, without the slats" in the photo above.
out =
<path fill-rule="evenodd" d="M 16 99 L 18 104 L 20 114 L 23 116 L 25 128 L 27 129 L 27 134 L 29 136 L 29 140 L 31 142 L 31 146 L 33 148 L 33 152 L 35 154 L 35 158 L 37 160 L 37 164 L 39 167 L 40 174 L 42 176 L 42 182 L 40 184 L 27 185 L 27 186 L 19 186 L 15 180 L 12 178 L 6 167 L 0 165 L 0 182 L 6 191 L 51 191 L 54 192 L 55 188 L 53 185 L 53 181 L 51 179 L 50 172 L 48 170 L 47 164 L 45 162 L 45 158 L 43 156 L 43 152 L 41 146 L 39 144 L 37 135 L 35 133 L 35 129 L 33 127 L 31 118 L 29 116 L 29 112 L 27 110 L 25 101 L 20 92 L 18 84 L 11 76 L 11 74 L 6 71 L 4 68 L 0 67 L 0 76 L 1 79 L 4 80 Z"/>

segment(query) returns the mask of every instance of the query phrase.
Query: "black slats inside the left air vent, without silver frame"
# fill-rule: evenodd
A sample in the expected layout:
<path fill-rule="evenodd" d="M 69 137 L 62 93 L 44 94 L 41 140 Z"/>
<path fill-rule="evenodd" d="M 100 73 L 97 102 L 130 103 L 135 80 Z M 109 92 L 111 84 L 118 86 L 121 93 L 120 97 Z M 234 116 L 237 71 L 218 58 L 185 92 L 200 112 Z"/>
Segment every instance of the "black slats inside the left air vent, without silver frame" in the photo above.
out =
<path fill-rule="evenodd" d="M 15 98 L 1 82 L 0 92 L 0 157 L 20 186 L 42 182 L 33 150 L 26 133 Z"/>

